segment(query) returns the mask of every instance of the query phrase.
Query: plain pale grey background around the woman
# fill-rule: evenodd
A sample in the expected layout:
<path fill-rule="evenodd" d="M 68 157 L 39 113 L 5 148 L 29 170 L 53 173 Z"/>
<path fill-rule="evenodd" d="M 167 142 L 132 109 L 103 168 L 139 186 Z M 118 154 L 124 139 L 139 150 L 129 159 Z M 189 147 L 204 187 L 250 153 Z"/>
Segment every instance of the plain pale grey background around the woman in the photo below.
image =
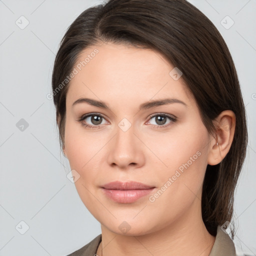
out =
<path fill-rule="evenodd" d="M 46 98 L 64 32 L 100 2 L 0 0 L 0 255 L 67 255 L 101 233 L 66 177 L 70 167 Z M 224 37 L 241 83 L 249 145 L 235 195 L 235 245 L 239 255 L 256 255 L 256 0 L 190 2 Z"/>

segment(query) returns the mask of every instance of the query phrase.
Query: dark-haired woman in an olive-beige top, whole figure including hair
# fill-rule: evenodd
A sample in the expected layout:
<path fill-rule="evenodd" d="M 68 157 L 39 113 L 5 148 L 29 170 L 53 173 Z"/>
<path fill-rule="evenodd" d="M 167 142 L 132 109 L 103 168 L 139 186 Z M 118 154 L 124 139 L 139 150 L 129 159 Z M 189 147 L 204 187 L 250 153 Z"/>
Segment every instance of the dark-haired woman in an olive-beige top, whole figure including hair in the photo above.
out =
<path fill-rule="evenodd" d="M 101 234 L 70 255 L 235 255 L 225 233 L 247 145 L 229 50 L 185 0 L 108 0 L 66 31 L 60 146 Z"/>

